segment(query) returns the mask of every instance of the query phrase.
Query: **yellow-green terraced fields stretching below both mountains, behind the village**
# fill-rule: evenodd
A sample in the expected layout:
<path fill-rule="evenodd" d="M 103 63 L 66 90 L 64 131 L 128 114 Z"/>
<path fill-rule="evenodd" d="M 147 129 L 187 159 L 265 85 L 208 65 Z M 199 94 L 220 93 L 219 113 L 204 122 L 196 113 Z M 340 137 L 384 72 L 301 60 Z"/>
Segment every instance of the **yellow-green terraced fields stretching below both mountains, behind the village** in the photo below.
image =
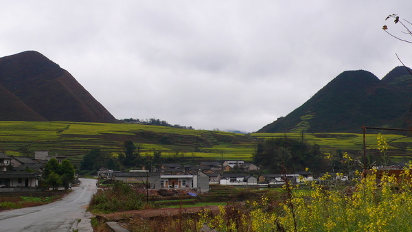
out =
<path fill-rule="evenodd" d="M 253 133 L 240 135 L 210 130 L 185 130 L 141 124 L 101 124 L 80 122 L 0 121 L 0 150 L 8 155 L 19 155 L 19 148 L 49 150 L 51 154 L 68 156 L 73 163 L 80 163 L 82 156 L 93 148 L 118 154 L 122 143 L 131 140 L 141 147 L 141 155 L 151 156 L 161 150 L 163 157 L 190 159 L 251 161 L 256 144 L 261 139 L 293 137 L 317 143 L 325 154 L 337 149 L 359 155 L 363 152 L 363 134 L 349 133 Z M 389 152 L 401 159 L 400 146 L 411 153 L 412 140 L 402 135 L 384 135 Z M 411 146 L 409 146 L 411 144 Z M 366 135 L 368 152 L 377 151 L 376 134 Z"/>

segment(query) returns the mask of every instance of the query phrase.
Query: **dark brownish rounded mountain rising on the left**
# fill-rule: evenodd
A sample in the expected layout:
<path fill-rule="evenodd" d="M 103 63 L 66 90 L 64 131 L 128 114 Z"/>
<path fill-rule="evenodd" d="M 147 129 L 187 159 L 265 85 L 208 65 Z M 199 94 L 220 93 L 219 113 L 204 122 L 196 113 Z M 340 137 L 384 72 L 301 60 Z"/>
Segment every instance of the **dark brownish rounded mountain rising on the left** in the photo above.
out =
<path fill-rule="evenodd" d="M 0 121 L 116 122 L 71 74 L 37 51 L 0 58 Z"/>

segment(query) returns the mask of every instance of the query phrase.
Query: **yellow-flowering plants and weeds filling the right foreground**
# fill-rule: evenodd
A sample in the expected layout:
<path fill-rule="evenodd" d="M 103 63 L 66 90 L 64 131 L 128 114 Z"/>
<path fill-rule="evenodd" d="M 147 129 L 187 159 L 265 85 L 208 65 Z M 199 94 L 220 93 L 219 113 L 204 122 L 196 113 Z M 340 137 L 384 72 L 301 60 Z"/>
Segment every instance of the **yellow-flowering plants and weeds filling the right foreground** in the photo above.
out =
<path fill-rule="evenodd" d="M 412 166 L 411 166 L 412 167 Z M 411 167 L 400 176 L 372 172 L 355 176 L 354 187 L 328 188 L 315 182 L 312 191 L 296 191 L 282 203 L 268 196 L 231 202 L 218 213 L 207 209 L 196 215 L 132 221 L 131 231 L 198 231 L 204 224 L 217 231 L 412 231 Z"/>

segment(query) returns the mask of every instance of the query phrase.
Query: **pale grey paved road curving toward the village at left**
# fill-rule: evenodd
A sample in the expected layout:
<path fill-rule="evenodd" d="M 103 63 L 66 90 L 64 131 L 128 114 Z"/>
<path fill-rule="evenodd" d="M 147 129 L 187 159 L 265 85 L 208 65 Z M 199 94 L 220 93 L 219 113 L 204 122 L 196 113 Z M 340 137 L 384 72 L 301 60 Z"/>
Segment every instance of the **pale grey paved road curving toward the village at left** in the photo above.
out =
<path fill-rule="evenodd" d="M 82 183 L 59 200 L 47 205 L 0 212 L 1 231 L 93 231 L 87 205 L 96 191 L 96 181 L 80 178 Z M 78 220 L 81 219 L 80 222 Z"/>

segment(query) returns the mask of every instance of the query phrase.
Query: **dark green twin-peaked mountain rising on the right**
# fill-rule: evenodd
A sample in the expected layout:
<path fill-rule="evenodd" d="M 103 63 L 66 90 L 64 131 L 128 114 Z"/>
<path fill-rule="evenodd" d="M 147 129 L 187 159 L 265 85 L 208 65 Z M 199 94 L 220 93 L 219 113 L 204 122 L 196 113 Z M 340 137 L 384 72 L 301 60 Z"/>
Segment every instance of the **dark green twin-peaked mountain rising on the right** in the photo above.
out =
<path fill-rule="evenodd" d="M 411 102 L 412 76 L 405 67 L 396 67 L 382 80 L 369 71 L 344 71 L 310 100 L 258 132 L 362 132 L 361 126 L 412 128 Z"/>

